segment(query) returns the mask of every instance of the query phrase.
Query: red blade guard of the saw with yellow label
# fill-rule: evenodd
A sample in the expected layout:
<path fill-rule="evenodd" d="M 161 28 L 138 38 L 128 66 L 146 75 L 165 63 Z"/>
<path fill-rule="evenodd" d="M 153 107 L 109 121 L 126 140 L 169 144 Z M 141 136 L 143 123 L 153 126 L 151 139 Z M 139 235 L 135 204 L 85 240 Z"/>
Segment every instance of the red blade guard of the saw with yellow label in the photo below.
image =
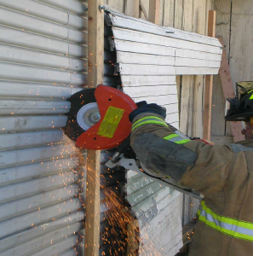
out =
<path fill-rule="evenodd" d="M 115 148 L 129 137 L 129 113 L 137 108 L 124 92 L 106 85 L 95 90 L 101 119 L 77 138 L 76 147 L 94 150 Z"/>

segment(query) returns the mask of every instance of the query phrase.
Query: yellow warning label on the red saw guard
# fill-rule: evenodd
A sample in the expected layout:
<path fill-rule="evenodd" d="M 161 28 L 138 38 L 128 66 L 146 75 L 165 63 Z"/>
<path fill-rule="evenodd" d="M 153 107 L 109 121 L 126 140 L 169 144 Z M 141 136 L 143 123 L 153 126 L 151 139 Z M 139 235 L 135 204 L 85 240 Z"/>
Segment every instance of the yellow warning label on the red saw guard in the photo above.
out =
<path fill-rule="evenodd" d="M 109 107 L 97 134 L 102 137 L 112 138 L 123 114 L 124 109 Z"/>

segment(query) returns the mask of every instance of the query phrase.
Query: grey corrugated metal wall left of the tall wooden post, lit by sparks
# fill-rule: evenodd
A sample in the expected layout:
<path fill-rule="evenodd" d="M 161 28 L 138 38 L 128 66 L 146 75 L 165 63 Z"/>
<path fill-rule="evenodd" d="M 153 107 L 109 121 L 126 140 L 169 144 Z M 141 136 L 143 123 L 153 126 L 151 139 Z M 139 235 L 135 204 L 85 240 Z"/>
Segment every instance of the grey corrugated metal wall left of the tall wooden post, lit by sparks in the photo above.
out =
<path fill-rule="evenodd" d="M 87 80 L 86 9 L 0 0 L 1 256 L 83 254 L 85 170 L 61 128 Z"/>

